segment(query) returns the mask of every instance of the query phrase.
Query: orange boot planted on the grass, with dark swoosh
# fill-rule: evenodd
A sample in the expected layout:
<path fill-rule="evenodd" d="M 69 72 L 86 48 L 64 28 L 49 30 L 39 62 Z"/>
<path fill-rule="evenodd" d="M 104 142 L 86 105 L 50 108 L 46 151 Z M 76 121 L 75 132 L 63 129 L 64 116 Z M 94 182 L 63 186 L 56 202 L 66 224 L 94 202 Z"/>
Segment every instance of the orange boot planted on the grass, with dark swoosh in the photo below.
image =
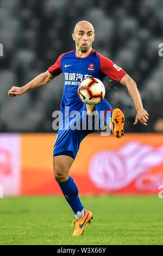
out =
<path fill-rule="evenodd" d="M 87 223 L 91 223 L 91 219 L 92 219 L 92 213 L 90 211 L 85 210 L 85 215 L 83 218 L 80 219 L 74 219 L 71 227 L 75 227 L 74 229 L 74 233 L 72 234 L 73 236 L 80 236 L 83 234 L 84 232 L 84 228 L 86 226 Z"/>

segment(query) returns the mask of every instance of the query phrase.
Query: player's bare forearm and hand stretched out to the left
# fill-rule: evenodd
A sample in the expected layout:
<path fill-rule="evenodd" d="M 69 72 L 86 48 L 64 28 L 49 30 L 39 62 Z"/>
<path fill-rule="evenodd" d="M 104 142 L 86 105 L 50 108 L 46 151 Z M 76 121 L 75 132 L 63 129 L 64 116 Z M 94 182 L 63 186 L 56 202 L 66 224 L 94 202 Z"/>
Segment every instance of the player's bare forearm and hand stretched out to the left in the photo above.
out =
<path fill-rule="evenodd" d="M 45 73 L 42 73 L 36 76 L 36 78 L 30 81 L 27 85 L 24 85 L 22 87 L 12 86 L 8 94 L 10 97 L 21 95 L 25 92 L 34 90 L 36 88 L 39 88 L 48 84 L 48 82 L 52 81 L 53 78 L 55 78 L 55 76 L 52 76 L 47 70 Z"/>

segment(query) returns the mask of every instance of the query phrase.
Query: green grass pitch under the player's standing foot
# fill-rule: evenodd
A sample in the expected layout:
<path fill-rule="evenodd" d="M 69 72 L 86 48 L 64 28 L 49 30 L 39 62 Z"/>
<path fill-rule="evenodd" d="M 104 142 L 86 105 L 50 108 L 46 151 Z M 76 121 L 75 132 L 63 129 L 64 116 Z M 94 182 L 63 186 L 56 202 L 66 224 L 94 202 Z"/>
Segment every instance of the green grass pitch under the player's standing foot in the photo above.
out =
<path fill-rule="evenodd" d="M 162 245 L 163 199 L 82 197 L 92 211 L 84 235 L 73 237 L 73 213 L 62 197 L 0 199 L 0 245 Z"/>

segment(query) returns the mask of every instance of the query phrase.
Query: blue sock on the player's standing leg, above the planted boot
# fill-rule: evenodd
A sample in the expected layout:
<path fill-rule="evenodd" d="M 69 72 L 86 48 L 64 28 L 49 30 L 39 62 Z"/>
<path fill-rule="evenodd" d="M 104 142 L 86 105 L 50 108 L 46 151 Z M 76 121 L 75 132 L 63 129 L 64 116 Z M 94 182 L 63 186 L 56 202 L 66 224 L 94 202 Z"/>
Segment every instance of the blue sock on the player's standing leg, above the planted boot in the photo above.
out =
<path fill-rule="evenodd" d="M 77 214 L 78 211 L 81 212 L 84 209 L 84 206 L 78 197 L 78 188 L 76 183 L 74 183 L 73 178 L 69 176 L 68 180 L 64 183 L 59 183 L 59 186 L 74 214 Z"/>

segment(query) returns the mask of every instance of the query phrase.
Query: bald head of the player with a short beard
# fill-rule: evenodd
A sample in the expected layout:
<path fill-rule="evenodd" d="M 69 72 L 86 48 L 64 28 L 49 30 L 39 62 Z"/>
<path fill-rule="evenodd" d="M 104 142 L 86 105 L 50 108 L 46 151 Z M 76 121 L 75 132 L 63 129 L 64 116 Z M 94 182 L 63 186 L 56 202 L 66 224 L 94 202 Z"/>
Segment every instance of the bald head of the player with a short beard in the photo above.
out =
<path fill-rule="evenodd" d="M 87 52 L 95 39 L 95 29 L 88 21 L 79 21 L 74 27 L 72 38 L 82 52 Z"/>

